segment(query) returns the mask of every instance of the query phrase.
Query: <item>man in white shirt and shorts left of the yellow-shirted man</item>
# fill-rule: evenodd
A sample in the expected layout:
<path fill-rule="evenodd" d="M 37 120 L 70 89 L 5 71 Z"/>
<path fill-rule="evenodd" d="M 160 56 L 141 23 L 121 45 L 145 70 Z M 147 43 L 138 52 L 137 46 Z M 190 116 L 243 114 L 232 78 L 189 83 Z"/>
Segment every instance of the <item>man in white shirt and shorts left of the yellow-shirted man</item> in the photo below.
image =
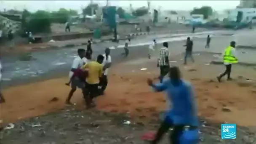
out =
<path fill-rule="evenodd" d="M 66 85 L 71 86 L 71 90 L 69 91 L 69 95 L 67 96 L 67 99 L 66 99 L 66 104 L 72 104 L 70 103 L 70 99 L 72 98 L 77 88 L 81 88 L 82 91 L 83 91 L 83 88 L 85 88 L 85 83 L 79 79 L 78 77 L 79 74 L 77 74 L 77 69 L 79 69 L 81 66 L 83 66 L 87 62 L 85 58 L 85 49 L 78 49 L 77 53 L 78 53 L 78 56 L 74 59 L 71 70 L 69 72 L 70 83 L 66 83 Z M 75 75 L 74 75 L 74 72 L 76 72 Z"/>

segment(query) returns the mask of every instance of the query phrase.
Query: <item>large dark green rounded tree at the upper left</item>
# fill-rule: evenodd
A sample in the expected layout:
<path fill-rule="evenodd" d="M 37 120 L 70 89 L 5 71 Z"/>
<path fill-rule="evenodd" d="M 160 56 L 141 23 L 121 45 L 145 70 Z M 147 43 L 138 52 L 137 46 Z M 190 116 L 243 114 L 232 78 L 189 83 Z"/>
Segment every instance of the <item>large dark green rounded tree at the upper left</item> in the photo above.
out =
<path fill-rule="evenodd" d="M 51 13 L 47 11 L 37 11 L 30 16 L 27 30 L 38 32 L 51 32 Z"/>

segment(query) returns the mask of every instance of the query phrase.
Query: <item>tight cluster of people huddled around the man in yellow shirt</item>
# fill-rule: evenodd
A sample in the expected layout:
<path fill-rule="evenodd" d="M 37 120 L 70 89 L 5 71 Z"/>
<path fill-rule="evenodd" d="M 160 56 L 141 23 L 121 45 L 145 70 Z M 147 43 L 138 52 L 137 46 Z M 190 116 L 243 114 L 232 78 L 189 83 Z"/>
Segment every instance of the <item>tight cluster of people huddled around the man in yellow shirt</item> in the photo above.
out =
<path fill-rule="evenodd" d="M 78 56 L 72 63 L 72 68 L 69 72 L 69 82 L 66 83 L 66 85 L 71 87 L 66 104 L 72 104 L 70 99 L 76 89 L 80 88 L 83 92 L 86 107 L 94 107 L 93 99 L 103 95 L 107 88 L 108 68 L 112 65 L 110 49 L 106 48 L 105 53 L 97 56 L 96 61 L 93 61 L 91 45 L 92 40 L 89 40 L 87 50 L 77 50 Z"/>

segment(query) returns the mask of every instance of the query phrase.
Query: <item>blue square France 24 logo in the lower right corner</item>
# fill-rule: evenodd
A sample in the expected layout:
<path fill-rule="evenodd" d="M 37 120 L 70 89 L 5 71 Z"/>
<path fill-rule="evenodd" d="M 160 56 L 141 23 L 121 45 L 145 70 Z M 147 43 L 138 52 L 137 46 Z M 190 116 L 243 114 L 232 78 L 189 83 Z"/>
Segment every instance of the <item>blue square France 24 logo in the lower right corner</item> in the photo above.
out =
<path fill-rule="evenodd" d="M 221 139 L 235 139 L 236 131 L 235 124 L 221 124 Z"/>

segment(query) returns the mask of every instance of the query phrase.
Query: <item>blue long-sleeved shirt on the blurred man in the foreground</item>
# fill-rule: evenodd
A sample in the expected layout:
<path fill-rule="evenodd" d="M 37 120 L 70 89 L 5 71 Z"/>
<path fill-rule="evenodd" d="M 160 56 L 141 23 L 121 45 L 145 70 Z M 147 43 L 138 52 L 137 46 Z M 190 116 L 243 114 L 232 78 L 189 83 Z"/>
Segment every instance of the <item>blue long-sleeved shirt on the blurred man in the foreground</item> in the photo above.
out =
<path fill-rule="evenodd" d="M 174 86 L 168 78 L 163 83 L 153 84 L 155 91 L 166 91 L 167 98 L 172 103 L 166 115 L 178 125 L 198 125 L 194 90 L 187 81 L 180 80 L 180 85 Z"/>

